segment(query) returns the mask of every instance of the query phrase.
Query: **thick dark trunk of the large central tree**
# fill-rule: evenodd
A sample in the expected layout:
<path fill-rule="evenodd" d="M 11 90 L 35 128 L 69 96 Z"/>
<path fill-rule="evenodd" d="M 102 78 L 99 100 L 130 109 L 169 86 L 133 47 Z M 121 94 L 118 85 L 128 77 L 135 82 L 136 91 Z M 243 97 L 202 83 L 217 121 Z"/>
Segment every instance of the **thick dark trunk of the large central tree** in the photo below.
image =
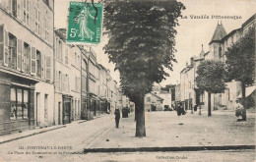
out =
<path fill-rule="evenodd" d="M 137 106 L 136 106 L 137 105 Z M 145 129 L 145 112 L 144 112 L 144 95 L 141 94 L 138 98 L 138 102 L 135 104 L 136 112 L 136 134 L 135 136 L 146 136 L 146 129 Z"/>

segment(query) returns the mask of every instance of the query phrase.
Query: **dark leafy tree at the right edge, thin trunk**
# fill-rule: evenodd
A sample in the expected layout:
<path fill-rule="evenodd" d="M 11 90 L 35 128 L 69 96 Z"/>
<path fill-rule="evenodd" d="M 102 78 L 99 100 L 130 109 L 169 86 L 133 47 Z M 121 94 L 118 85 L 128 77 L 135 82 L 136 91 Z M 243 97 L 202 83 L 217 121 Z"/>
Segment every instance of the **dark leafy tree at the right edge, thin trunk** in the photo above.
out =
<path fill-rule="evenodd" d="M 243 37 L 227 48 L 225 56 L 226 81 L 241 82 L 242 104 L 246 110 L 245 87 L 255 81 L 255 28 L 250 28 Z M 243 120 L 246 121 L 246 111 Z"/>

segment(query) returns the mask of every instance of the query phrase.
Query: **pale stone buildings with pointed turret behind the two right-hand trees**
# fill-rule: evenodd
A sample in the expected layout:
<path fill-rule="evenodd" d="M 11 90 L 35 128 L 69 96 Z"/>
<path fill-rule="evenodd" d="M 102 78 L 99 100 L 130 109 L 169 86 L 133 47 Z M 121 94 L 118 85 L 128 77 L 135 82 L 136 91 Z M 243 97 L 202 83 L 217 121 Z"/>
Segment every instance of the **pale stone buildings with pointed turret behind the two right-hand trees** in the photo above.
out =
<path fill-rule="evenodd" d="M 241 27 L 233 29 L 228 33 L 225 31 L 224 25 L 218 23 L 209 43 L 209 51 L 204 52 L 202 48 L 199 56 L 193 56 L 191 63 L 186 64 L 186 67 L 180 73 L 180 100 L 183 102 L 185 109 L 191 109 L 195 104 L 201 105 L 202 108 L 205 109 L 208 108 L 208 93 L 206 91 L 200 91 L 195 82 L 198 65 L 204 60 L 225 62 L 226 58 L 224 52 L 227 47 L 238 41 L 246 33 L 248 28 L 255 27 L 255 17 L 256 15 L 254 14 Z M 239 81 L 225 82 L 225 84 L 226 89 L 224 93 L 211 94 L 211 107 L 213 109 L 232 109 L 234 100 L 238 98 L 238 95 L 241 93 Z M 249 95 L 250 94 L 248 94 L 248 96 Z"/>

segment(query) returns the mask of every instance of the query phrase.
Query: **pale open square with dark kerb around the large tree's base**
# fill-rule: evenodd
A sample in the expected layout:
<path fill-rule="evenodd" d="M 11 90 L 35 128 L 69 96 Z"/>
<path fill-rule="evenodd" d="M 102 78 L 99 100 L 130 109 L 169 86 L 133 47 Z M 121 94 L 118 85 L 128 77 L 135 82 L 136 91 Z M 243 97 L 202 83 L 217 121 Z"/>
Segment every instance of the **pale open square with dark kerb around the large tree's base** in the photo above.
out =
<path fill-rule="evenodd" d="M 188 111 L 184 117 L 184 125 L 178 125 L 175 111 L 147 112 L 146 137 L 135 137 L 136 124 L 132 115 L 122 118 L 119 129 L 112 128 L 90 148 L 85 148 L 85 152 L 100 152 L 100 148 L 104 148 L 102 151 L 109 148 L 110 151 L 117 151 L 115 148 L 134 148 L 137 151 L 137 148 L 160 147 L 255 148 L 254 113 L 247 113 L 247 122 L 236 122 L 233 112 L 213 111 L 212 114 L 212 117 L 208 117 L 207 112 L 203 112 L 199 116 L 198 113 L 191 114 Z"/>

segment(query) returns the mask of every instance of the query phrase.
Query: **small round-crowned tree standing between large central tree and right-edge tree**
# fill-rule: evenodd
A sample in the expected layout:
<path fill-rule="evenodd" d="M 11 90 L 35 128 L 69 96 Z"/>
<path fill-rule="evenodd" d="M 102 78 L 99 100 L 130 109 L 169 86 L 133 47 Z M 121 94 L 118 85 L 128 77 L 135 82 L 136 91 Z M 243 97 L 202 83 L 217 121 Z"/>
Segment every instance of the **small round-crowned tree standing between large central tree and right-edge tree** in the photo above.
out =
<path fill-rule="evenodd" d="M 197 69 L 196 83 L 201 90 L 208 92 L 208 116 L 211 113 L 211 93 L 224 92 L 224 63 L 207 60 L 200 63 Z"/>

